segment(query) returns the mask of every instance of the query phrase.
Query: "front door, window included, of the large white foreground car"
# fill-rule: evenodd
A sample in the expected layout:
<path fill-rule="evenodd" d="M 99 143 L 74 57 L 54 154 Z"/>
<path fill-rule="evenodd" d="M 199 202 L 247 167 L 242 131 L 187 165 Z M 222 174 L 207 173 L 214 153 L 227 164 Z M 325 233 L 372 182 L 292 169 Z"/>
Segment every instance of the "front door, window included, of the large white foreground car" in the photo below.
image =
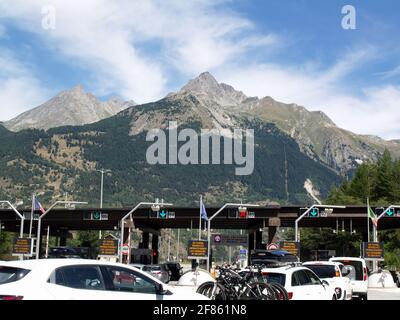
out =
<path fill-rule="evenodd" d="M 107 290 L 117 300 L 164 300 L 169 294 L 157 292 L 157 282 L 144 273 L 117 266 L 103 266 Z"/>

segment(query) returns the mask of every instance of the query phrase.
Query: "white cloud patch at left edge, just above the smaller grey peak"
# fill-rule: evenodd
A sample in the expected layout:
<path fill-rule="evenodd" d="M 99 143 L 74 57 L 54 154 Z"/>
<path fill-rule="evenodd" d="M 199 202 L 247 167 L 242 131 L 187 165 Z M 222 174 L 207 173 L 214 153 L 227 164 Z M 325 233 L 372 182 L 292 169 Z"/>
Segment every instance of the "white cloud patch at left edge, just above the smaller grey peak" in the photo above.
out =
<path fill-rule="evenodd" d="M 35 107 L 49 97 L 34 72 L 0 50 L 0 121 Z"/>

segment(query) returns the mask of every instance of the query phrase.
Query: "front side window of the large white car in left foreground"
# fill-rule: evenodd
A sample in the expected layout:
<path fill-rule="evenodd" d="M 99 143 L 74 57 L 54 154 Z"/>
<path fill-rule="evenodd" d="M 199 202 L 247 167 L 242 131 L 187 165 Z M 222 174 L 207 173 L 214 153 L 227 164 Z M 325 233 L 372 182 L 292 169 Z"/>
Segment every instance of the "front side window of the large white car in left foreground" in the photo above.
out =
<path fill-rule="evenodd" d="M 138 272 L 108 266 L 106 270 L 112 280 L 113 290 L 115 291 L 148 294 L 155 294 L 157 292 L 155 283 Z"/>

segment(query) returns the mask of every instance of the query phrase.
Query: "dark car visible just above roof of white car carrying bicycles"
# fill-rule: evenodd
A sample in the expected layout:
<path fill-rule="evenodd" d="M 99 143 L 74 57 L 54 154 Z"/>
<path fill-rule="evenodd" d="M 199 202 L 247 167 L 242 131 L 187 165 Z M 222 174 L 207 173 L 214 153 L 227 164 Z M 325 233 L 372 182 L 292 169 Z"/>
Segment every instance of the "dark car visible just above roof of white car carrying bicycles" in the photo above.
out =
<path fill-rule="evenodd" d="M 299 262 L 296 256 L 285 250 L 256 250 L 251 254 L 250 260 L 252 265 L 266 267 L 280 267 Z"/>

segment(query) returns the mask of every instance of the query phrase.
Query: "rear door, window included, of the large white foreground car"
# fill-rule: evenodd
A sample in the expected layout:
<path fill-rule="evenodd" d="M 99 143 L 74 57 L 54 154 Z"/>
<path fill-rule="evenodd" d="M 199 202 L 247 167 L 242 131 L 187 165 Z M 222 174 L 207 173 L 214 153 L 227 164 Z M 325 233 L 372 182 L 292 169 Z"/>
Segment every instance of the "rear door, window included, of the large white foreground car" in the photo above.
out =
<path fill-rule="evenodd" d="M 55 269 L 46 283 L 56 300 L 106 300 L 106 284 L 97 265 L 71 265 Z"/>

